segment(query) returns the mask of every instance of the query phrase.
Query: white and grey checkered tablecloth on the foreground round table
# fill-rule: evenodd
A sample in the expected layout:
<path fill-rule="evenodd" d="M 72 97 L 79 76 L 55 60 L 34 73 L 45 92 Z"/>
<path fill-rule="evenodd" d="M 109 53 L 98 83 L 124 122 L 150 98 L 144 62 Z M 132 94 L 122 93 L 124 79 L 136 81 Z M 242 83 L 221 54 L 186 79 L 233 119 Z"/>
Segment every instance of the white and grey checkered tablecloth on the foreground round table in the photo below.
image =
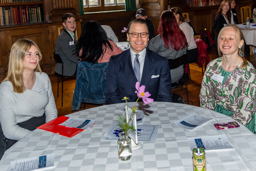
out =
<path fill-rule="evenodd" d="M 132 106 L 132 105 L 131 105 Z M 159 125 L 155 142 L 141 142 L 132 159 L 121 161 L 117 141 L 102 141 L 108 127 L 116 122 L 124 104 L 104 105 L 69 116 L 96 119 L 96 124 L 72 138 L 36 129 L 8 149 L 0 170 L 10 170 L 10 162 L 54 154 L 54 167 L 45 170 L 193 170 L 188 137 L 226 135 L 233 149 L 206 151 L 207 170 L 256 170 L 256 135 L 243 125 L 236 129 L 216 130 L 214 123 L 233 121 L 225 115 L 192 105 L 153 102 L 142 124 Z M 191 113 L 214 118 L 194 130 L 184 130 L 174 122 Z"/>

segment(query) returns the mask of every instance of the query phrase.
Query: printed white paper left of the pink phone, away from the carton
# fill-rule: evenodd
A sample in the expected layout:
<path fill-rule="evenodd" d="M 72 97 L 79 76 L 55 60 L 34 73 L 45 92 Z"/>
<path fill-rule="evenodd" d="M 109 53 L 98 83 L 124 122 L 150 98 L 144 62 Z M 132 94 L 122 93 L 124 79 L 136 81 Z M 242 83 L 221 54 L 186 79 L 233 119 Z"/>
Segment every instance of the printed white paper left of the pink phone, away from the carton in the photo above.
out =
<path fill-rule="evenodd" d="M 205 122 L 208 122 L 212 118 L 205 118 L 196 113 L 190 114 L 180 120 L 174 122 L 179 127 L 187 130 L 193 130 L 195 127 L 202 125 Z"/>

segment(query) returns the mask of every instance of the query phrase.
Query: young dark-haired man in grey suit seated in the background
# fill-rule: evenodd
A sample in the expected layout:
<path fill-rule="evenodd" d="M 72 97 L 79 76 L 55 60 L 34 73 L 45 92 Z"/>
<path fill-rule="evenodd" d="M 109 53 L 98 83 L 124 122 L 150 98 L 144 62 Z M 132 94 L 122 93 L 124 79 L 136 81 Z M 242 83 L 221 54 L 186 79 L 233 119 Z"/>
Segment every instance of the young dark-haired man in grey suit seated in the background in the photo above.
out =
<path fill-rule="evenodd" d="M 75 16 L 72 13 L 63 14 L 62 25 L 64 28 L 56 40 L 55 53 L 58 54 L 63 61 L 63 75 L 72 76 L 75 74 L 76 67 L 79 62 L 79 59 L 75 54 Z M 61 74 L 61 67 L 61 63 L 57 63 L 54 71 L 58 74 Z"/>

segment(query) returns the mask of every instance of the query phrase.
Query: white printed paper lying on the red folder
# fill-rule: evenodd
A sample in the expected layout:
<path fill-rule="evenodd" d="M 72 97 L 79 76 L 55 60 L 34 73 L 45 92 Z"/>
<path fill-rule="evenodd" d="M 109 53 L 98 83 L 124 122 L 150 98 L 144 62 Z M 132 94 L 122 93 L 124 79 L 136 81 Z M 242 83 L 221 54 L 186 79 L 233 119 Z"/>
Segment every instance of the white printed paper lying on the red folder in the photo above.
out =
<path fill-rule="evenodd" d="M 70 117 L 65 122 L 60 123 L 58 125 L 67 126 L 67 127 L 76 127 L 78 129 L 86 130 L 88 129 L 88 127 L 94 125 L 95 122 L 96 120 Z"/>

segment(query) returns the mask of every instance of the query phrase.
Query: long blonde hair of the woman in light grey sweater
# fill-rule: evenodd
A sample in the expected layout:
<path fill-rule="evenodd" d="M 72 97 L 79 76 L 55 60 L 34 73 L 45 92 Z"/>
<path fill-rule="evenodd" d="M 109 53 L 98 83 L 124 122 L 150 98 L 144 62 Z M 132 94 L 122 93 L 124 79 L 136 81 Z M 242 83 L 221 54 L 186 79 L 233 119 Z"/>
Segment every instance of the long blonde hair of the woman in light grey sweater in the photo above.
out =
<path fill-rule="evenodd" d="M 12 45 L 7 77 L 4 81 L 10 81 L 12 83 L 13 91 L 15 93 L 23 93 L 26 90 L 23 83 L 23 60 L 32 46 L 35 46 L 37 49 L 39 57 L 38 65 L 34 71 L 39 71 L 41 73 L 42 70 L 39 62 L 42 59 L 42 54 L 34 41 L 30 39 L 19 39 Z"/>

